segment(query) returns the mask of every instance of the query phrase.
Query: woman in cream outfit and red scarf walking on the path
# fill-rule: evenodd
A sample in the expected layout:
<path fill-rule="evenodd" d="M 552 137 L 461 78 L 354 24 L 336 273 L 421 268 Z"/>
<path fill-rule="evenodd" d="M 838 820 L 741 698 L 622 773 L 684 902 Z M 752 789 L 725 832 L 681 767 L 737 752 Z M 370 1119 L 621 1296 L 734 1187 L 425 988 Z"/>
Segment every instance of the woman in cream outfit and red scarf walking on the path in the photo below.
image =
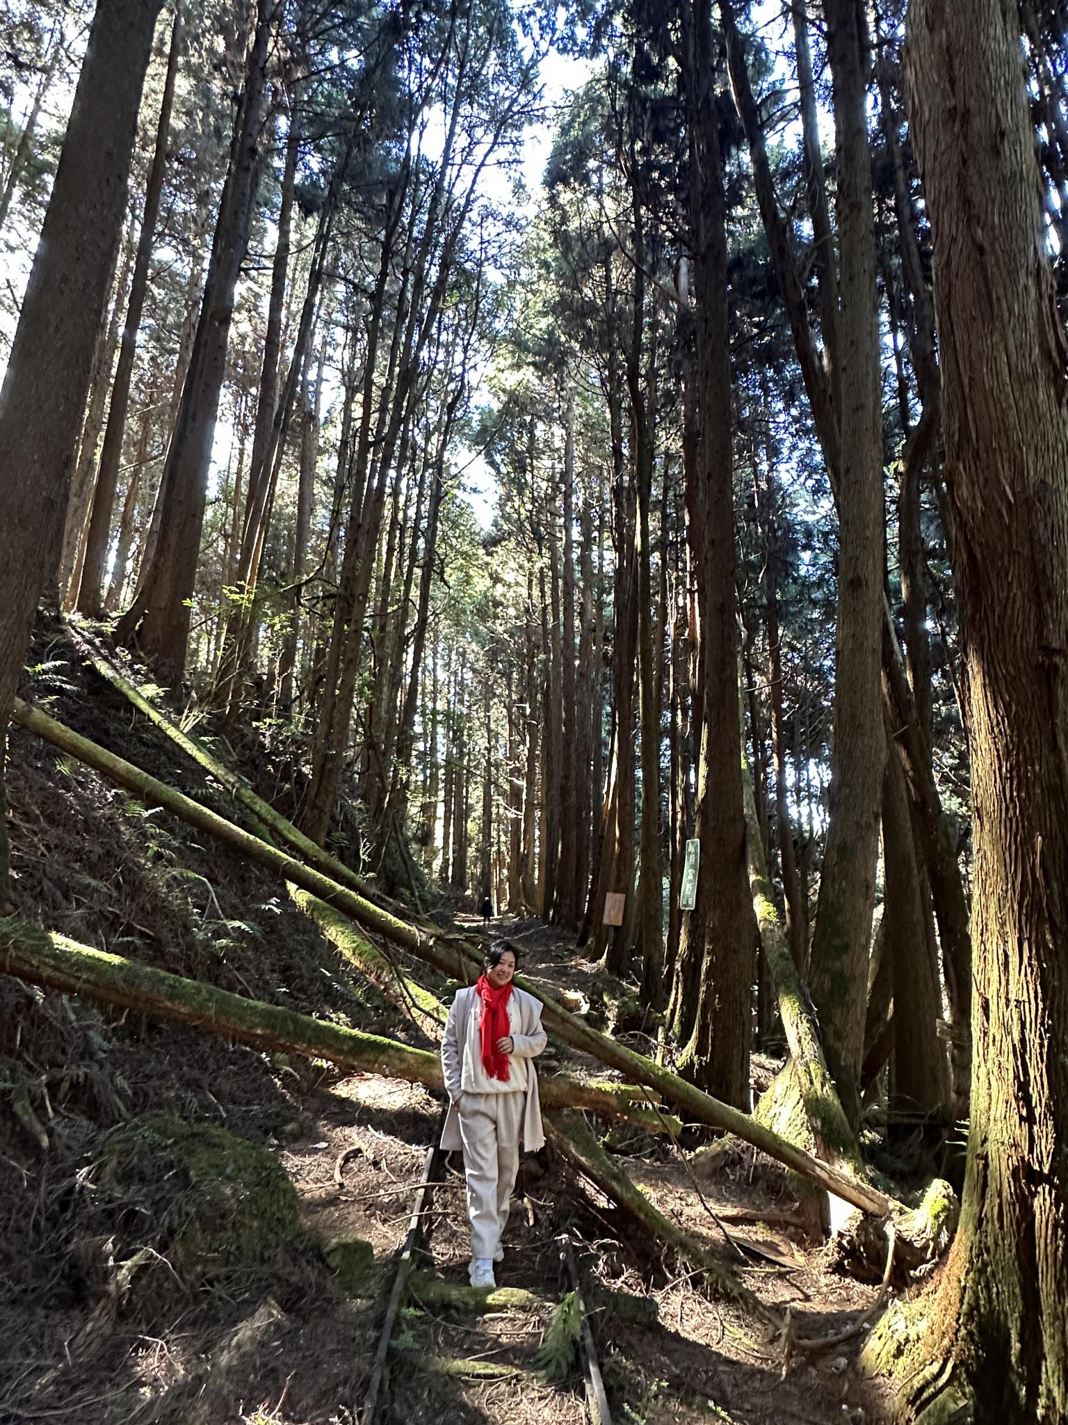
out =
<path fill-rule="evenodd" d="M 443 1149 L 463 1149 L 471 1220 L 473 1287 L 493 1287 L 504 1255 L 511 1190 L 520 1168 L 520 1136 L 528 1153 L 545 1141 L 534 1059 L 545 1047 L 541 1005 L 513 985 L 515 953 L 494 945 L 478 983 L 453 1000 L 441 1042 L 449 1093 Z"/>

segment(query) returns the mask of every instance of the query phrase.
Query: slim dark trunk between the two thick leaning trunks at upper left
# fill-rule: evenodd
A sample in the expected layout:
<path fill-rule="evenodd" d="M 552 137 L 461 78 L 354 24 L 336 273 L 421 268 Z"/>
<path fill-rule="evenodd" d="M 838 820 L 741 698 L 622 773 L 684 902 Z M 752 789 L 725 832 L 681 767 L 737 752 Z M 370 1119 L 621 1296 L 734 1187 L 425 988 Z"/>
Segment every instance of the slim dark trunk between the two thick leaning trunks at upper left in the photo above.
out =
<path fill-rule="evenodd" d="M 148 265 L 152 261 L 155 224 L 159 217 L 159 198 L 164 191 L 164 174 L 167 172 L 167 140 L 171 133 L 171 108 L 174 107 L 174 84 L 178 74 L 181 47 L 182 10 L 181 3 L 178 3 L 175 6 L 174 24 L 171 26 L 171 50 L 167 57 L 164 95 L 159 103 L 159 120 L 155 130 L 155 152 L 152 154 L 152 165 L 148 170 L 148 182 L 145 184 L 145 205 L 141 214 L 141 235 L 137 241 L 134 275 L 130 281 L 127 319 L 118 346 L 118 366 L 115 368 L 115 379 L 111 386 L 111 405 L 108 406 L 108 420 L 104 428 L 104 445 L 100 452 L 97 484 L 93 492 L 93 513 L 90 514 L 88 532 L 85 534 L 81 584 L 77 591 L 77 600 L 74 600 L 78 611 L 87 614 L 90 618 L 100 618 L 104 613 L 104 577 L 107 574 L 108 544 L 111 543 L 111 514 L 118 486 L 118 466 L 122 457 L 127 410 L 130 409 L 130 382 L 134 375 L 137 335 L 141 329 L 141 312 L 148 291 Z"/>

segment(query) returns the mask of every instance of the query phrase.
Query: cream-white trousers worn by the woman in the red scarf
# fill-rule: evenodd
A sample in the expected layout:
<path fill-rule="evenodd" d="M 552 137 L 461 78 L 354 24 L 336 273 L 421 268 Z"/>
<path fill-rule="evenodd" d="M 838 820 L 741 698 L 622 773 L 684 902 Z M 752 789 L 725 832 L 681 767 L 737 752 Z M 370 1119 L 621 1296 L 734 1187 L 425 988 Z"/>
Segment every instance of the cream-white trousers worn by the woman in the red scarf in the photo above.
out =
<path fill-rule="evenodd" d="M 500 1247 L 511 1190 L 520 1170 L 524 1093 L 460 1096 L 460 1137 L 467 1177 L 471 1257 L 491 1258 Z"/>

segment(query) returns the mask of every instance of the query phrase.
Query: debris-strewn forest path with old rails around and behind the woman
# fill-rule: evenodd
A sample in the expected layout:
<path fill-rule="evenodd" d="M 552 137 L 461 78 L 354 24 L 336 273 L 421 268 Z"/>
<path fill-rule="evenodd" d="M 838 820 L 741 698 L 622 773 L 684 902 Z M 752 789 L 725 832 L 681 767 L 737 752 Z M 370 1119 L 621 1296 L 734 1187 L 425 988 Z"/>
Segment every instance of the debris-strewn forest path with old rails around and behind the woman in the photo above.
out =
<path fill-rule="evenodd" d="M 605 983 L 600 968 L 540 922 L 497 921 L 490 935 L 524 945 L 523 969 L 535 980 L 590 1000 L 600 998 Z M 551 1045 L 547 1054 L 543 1074 L 554 1066 L 582 1069 L 572 1050 Z M 377 1255 L 387 1255 L 407 1227 L 409 1198 L 440 1106 L 419 1086 L 375 1076 L 345 1080 L 325 1099 L 315 1120 L 316 1144 L 289 1150 L 286 1168 L 299 1184 L 310 1226 L 330 1237 L 370 1240 Z M 725 1251 L 762 1300 L 790 1305 L 805 1318 L 807 1335 L 840 1331 L 873 1300 L 874 1288 L 834 1271 L 833 1247 L 812 1248 L 789 1226 L 793 1204 L 782 1178 L 758 1166 L 752 1153 L 702 1181 L 702 1203 L 678 1151 L 627 1124 L 614 1129 L 608 1141 L 661 1211 Z M 446 1418 L 464 1422 L 588 1419 L 577 1365 L 558 1385 L 531 1374 L 553 1304 L 567 1290 L 562 1233 L 580 1251 L 614 1419 L 802 1425 L 881 1418 L 870 1382 L 854 1371 L 859 1342 L 783 1362 L 779 1342 L 763 1342 L 742 1312 L 709 1300 L 693 1274 L 665 1267 L 656 1245 L 641 1240 L 617 1207 L 551 1153 L 524 1159 L 506 1257 L 497 1268 L 498 1287 L 531 1295 L 487 1301 L 486 1294 L 467 1288 L 470 1248 L 459 1156 L 439 1181 L 427 1221 L 430 1261 L 403 1314 L 390 1395 L 394 1414 L 387 1418 L 431 1419 L 447 1411 Z M 712 1214 L 729 1223 L 735 1245 L 725 1248 Z M 739 1220 L 746 1217 L 752 1220 Z M 470 1364 L 470 1374 L 454 1374 L 460 1361 Z"/>

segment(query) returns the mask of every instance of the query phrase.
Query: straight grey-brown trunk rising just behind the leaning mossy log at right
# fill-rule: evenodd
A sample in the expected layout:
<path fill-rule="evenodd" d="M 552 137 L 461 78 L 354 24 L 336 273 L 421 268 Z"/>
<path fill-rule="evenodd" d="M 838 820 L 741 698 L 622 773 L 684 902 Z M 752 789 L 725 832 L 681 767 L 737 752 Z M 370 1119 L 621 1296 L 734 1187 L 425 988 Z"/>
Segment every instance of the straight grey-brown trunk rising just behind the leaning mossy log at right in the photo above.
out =
<path fill-rule="evenodd" d="M 864 999 L 876 892 L 881 770 L 883 439 L 879 298 L 867 144 L 863 11 L 827 0 L 837 135 L 840 256 L 839 603 L 834 744 L 812 996 L 827 1064 L 853 1129 L 860 1121 Z"/>

